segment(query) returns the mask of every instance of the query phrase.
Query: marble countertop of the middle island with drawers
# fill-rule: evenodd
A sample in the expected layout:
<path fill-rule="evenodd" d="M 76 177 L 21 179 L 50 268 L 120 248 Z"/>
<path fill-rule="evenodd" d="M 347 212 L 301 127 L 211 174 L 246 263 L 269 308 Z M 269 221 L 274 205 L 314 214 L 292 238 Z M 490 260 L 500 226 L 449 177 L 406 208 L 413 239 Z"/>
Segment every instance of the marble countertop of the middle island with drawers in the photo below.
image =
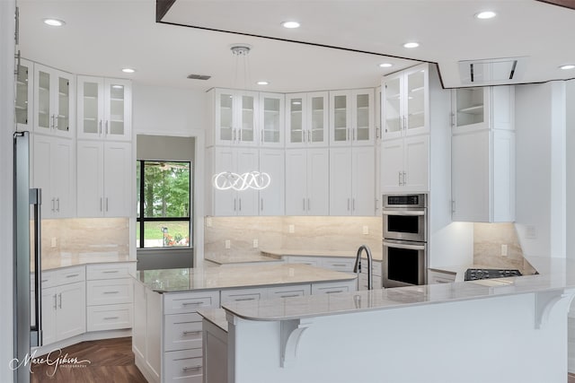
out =
<path fill-rule="evenodd" d="M 140 270 L 135 278 L 155 292 L 190 292 L 279 284 L 349 281 L 355 274 L 301 264 L 226 265 L 225 267 Z"/>

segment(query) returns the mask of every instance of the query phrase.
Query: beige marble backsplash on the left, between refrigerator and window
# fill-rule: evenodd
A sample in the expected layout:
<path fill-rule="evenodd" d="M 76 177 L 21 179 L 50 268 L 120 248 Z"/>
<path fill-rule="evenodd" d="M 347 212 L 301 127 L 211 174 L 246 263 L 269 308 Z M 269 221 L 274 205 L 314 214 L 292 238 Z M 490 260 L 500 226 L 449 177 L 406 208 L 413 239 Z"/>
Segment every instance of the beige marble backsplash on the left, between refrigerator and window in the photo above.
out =
<path fill-rule="evenodd" d="M 42 259 L 129 256 L 128 218 L 42 220 Z"/>

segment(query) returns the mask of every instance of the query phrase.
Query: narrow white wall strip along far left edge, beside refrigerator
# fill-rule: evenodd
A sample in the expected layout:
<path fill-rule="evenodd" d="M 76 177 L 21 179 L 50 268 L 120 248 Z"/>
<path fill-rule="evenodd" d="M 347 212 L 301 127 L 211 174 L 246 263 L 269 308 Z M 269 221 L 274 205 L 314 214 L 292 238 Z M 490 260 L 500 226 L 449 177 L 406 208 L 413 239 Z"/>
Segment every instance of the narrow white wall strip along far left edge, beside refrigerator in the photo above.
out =
<path fill-rule="evenodd" d="M 0 381 L 12 382 L 13 358 L 13 55 L 14 0 L 0 1 Z"/>

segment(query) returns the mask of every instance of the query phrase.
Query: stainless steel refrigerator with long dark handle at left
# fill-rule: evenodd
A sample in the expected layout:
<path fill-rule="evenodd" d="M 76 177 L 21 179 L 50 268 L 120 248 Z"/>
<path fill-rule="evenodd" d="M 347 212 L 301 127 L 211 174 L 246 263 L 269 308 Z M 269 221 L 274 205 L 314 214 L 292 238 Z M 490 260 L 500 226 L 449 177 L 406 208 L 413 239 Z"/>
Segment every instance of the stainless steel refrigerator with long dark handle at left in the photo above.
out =
<path fill-rule="evenodd" d="M 30 187 L 30 134 L 14 133 L 13 324 L 14 358 L 26 361 L 40 346 L 40 189 Z M 30 382 L 30 365 L 14 369 L 14 382 Z"/>

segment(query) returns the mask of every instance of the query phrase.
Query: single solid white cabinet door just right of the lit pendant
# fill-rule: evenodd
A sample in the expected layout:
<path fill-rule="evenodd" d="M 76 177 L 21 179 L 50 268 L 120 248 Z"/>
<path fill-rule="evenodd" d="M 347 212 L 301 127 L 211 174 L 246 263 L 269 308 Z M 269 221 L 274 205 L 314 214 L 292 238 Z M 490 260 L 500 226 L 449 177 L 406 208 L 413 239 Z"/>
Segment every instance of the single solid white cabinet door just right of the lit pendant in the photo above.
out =
<path fill-rule="evenodd" d="M 260 149 L 260 171 L 270 176 L 270 186 L 260 190 L 260 215 L 285 213 L 285 152 L 283 149 Z M 247 191 L 247 190 L 246 190 Z"/>

